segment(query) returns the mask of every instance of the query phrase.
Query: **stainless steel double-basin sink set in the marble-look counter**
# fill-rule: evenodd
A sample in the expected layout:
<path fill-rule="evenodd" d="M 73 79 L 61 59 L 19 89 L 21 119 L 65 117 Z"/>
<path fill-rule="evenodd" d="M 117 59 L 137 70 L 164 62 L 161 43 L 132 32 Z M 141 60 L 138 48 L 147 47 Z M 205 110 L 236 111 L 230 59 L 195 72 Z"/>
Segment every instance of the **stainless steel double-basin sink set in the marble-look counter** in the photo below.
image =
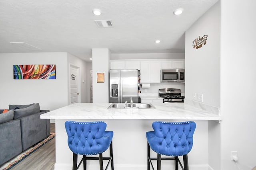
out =
<path fill-rule="evenodd" d="M 110 106 L 108 106 L 108 109 L 155 109 L 156 107 L 154 107 L 152 104 L 146 104 L 146 103 L 134 103 L 131 104 L 127 103 L 126 107 L 124 107 L 125 104 L 124 103 L 113 103 L 110 104 Z"/>

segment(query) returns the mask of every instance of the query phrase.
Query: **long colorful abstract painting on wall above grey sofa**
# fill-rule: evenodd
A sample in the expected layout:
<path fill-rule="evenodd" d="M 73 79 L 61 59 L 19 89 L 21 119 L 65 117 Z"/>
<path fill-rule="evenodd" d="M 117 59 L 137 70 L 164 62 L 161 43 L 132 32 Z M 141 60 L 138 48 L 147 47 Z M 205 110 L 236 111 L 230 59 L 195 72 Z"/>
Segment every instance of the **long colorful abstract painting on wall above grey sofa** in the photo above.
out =
<path fill-rule="evenodd" d="M 13 79 L 56 79 L 55 64 L 13 65 Z"/>

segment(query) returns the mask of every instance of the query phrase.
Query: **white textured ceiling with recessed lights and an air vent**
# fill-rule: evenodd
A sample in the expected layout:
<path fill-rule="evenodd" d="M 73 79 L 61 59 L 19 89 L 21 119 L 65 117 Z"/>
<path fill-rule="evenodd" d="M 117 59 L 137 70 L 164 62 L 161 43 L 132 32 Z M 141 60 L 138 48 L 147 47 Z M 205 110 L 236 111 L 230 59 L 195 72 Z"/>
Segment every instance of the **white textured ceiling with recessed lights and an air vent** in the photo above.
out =
<path fill-rule="evenodd" d="M 180 53 L 185 31 L 218 0 L 0 0 L 0 53 Z M 102 11 L 100 16 L 92 13 Z M 173 11 L 183 8 L 180 16 Z M 99 28 L 94 20 L 112 20 Z M 154 43 L 160 39 L 159 44 Z M 24 42 L 26 45 L 10 44 Z M 41 49 L 41 50 L 40 50 Z"/>

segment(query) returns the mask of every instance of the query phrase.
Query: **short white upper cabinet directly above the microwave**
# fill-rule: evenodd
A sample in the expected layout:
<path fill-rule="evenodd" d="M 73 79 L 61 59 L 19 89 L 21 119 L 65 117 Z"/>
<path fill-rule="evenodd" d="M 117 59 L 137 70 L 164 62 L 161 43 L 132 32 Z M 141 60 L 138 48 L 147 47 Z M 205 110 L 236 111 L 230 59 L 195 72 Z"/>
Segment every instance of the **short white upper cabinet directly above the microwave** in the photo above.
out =
<path fill-rule="evenodd" d="M 185 69 L 184 59 L 161 60 L 161 69 Z"/>

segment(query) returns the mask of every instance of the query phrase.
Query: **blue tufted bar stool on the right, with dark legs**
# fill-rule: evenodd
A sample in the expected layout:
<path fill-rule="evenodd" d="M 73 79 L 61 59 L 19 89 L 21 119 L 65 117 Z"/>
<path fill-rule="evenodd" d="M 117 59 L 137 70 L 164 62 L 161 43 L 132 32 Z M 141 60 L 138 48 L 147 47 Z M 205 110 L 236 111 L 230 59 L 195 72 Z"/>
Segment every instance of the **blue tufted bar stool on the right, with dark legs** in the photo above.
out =
<path fill-rule="evenodd" d="M 193 134 L 196 129 L 194 121 L 186 122 L 162 122 L 155 121 L 152 124 L 154 131 L 146 133 L 148 140 L 148 170 L 151 160 L 157 160 L 157 170 L 161 169 L 161 160 L 175 160 L 175 170 L 180 164 L 182 170 L 188 170 L 188 152 L 193 146 Z M 157 158 L 150 157 L 150 148 L 157 153 Z M 161 155 L 172 156 L 161 158 Z M 178 156 L 183 156 L 183 165 Z"/>

